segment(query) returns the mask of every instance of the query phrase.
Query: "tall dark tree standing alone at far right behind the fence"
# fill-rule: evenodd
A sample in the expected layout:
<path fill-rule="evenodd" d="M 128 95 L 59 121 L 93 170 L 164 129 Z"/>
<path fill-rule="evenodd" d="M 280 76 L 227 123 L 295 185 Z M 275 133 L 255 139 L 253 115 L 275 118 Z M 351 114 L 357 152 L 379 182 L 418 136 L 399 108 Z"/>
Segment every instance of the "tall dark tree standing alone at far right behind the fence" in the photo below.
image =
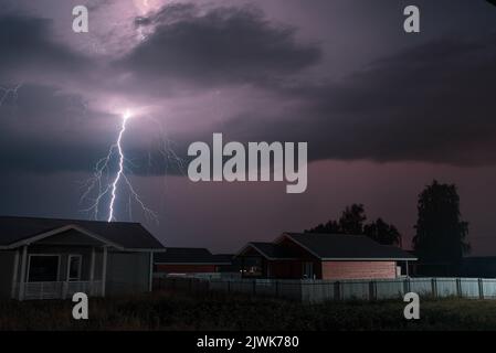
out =
<path fill-rule="evenodd" d="M 419 195 L 418 212 L 413 248 L 421 260 L 456 263 L 469 252 L 468 224 L 461 220 L 455 185 L 434 180 Z"/>

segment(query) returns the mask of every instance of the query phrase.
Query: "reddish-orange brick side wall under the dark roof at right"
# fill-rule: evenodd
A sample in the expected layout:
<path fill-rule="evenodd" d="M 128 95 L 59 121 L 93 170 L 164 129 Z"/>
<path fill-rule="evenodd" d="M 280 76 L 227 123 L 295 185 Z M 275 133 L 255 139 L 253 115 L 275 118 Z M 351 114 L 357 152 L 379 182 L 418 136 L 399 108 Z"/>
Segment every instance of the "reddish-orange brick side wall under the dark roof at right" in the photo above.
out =
<path fill-rule="evenodd" d="M 395 278 L 395 261 L 323 261 L 323 279 Z"/>

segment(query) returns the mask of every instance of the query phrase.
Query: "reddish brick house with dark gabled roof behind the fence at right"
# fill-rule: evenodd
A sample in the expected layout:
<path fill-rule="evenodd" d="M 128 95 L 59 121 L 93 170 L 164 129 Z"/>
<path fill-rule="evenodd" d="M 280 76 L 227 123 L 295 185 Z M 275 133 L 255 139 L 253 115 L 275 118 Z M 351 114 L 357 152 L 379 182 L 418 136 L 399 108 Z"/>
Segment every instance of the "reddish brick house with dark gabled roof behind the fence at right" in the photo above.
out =
<path fill-rule="evenodd" d="M 284 233 L 273 243 L 249 243 L 236 257 L 244 277 L 368 279 L 395 278 L 411 254 L 366 236 Z"/>

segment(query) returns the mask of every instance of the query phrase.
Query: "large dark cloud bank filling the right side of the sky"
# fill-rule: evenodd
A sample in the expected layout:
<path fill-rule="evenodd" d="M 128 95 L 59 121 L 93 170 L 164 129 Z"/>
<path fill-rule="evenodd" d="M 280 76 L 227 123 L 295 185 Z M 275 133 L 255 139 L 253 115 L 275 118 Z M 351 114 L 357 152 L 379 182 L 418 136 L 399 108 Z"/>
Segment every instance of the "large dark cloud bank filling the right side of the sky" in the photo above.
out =
<path fill-rule="evenodd" d="M 243 117 L 247 139 L 309 141 L 312 159 L 496 162 L 496 35 L 437 40 L 376 61 L 339 84 L 299 86 L 286 121 Z M 274 120 L 273 120 L 274 121 Z M 266 132 L 260 132 L 264 124 Z"/>

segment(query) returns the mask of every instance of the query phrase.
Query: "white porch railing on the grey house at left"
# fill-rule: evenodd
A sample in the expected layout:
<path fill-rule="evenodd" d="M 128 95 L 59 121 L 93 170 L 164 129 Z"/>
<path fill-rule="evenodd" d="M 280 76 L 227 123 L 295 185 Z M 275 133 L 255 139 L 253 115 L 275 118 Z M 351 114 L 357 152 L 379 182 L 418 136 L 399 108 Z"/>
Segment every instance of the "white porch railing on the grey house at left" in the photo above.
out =
<path fill-rule="evenodd" d="M 24 300 L 35 299 L 66 299 L 76 292 L 84 292 L 88 297 L 102 297 L 102 281 L 56 281 L 56 282 L 25 282 L 17 284 L 15 293 L 19 296 L 20 286 L 24 286 Z M 18 297 L 17 296 L 17 297 Z"/>

